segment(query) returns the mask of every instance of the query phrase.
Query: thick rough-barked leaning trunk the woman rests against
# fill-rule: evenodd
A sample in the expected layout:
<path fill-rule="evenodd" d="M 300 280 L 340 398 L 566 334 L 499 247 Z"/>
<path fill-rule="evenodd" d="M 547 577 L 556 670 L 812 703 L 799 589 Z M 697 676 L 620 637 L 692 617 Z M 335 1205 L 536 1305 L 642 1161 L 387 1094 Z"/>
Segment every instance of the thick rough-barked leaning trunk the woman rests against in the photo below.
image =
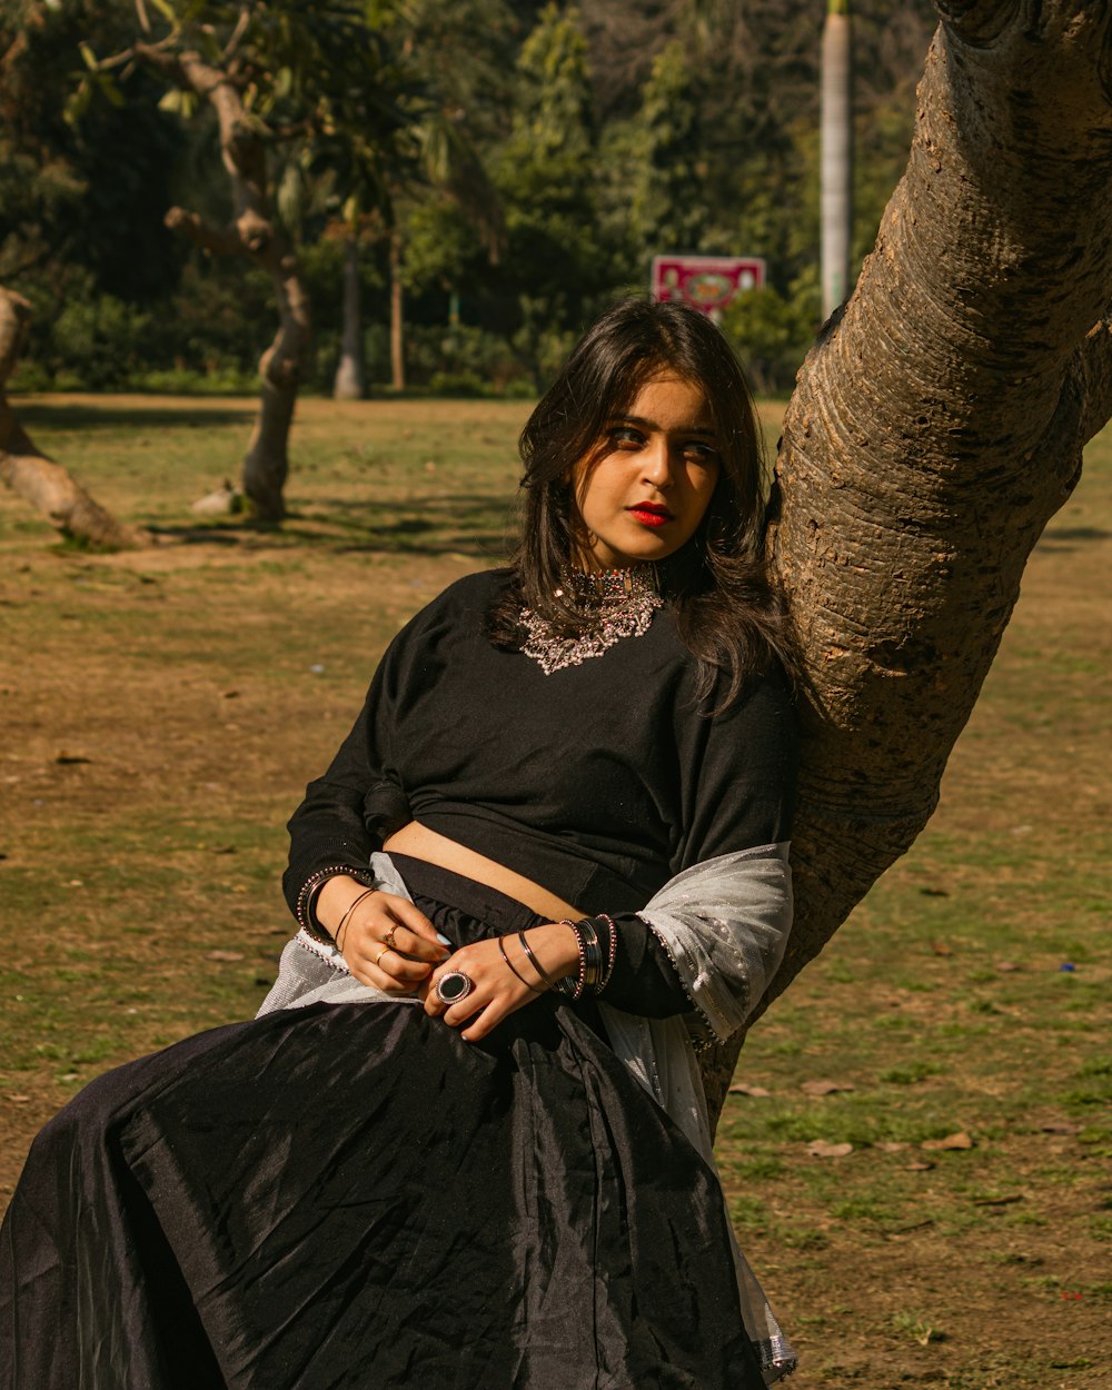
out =
<path fill-rule="evenodd" d="M 769 546 L 805 748 L 771 995 L 930 817 L 1027 556 L 1112 414 L 1112 11 L 938 8 L 906 174 L 784 421 Z M 735 1059 L 710 1059 L 716 1106 Z"/>

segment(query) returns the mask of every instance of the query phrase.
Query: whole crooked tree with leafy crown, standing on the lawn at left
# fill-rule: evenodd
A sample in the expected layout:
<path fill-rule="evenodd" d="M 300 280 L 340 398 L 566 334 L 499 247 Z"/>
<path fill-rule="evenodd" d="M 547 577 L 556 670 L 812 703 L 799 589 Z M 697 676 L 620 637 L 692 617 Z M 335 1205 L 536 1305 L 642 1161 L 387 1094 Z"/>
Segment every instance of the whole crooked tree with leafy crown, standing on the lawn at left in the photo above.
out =
<path fill-rule="evenodd" d="M 164 83 L 164 110 L 189 117 L 204 104 L 215 117 L 231 218 L 215 227 L 175 207 L 167 222 L 213 254 L 247 257 L 271 279 L 279 327 L 260 361 L 261 406 L 242 484 L 256 514 L 277 521 L 311 316 L 296 250 L 275 215 L 274 156 L 321 139 L 393 139 L 406 118 L 389 83 L 379 88 L 389 56 L 360 0 L 158 0 L 156 18 L 145 0 L 135 4 L 132 42 L 100 57 L 85 44 L 89 72 L 74 111 L 97 92 L 111 97 L 115 75 L 142 65 Z"/>

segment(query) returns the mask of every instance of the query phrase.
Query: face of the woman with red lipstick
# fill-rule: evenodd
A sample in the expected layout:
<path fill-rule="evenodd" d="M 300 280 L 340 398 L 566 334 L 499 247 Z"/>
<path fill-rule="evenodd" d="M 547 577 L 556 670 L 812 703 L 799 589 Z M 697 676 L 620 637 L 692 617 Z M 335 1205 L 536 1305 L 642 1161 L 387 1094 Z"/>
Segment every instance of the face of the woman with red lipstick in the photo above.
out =
<path fill-rule="evenodd" d="M 713 421 L 702 391 L 664 370 L 606 424 L 596 463 L 571 474 L 588 570 L 674 555 L 695 534 L 719 481 Z"/>

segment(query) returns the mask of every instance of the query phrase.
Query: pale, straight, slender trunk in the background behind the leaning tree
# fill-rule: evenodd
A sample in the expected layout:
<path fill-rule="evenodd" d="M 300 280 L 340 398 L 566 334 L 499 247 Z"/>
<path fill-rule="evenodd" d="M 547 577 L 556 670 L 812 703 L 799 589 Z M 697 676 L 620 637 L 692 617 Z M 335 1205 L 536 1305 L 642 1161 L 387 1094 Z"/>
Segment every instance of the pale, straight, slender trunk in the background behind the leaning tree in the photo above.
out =
<path fill-rule="evenodd" d="M 823 318 L 849 293 L 853 235 L 853 53 L 849 0 L 827 0 L 821 99 Z"/>

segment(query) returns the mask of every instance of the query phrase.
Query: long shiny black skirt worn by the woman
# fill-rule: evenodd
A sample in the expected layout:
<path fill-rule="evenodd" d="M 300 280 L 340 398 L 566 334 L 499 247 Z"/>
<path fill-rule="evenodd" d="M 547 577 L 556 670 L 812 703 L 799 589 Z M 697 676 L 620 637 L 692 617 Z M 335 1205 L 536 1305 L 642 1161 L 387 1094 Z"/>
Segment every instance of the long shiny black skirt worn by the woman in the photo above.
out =
<path fill-rule="evenodd" d="M 457 945 L 542 920 L 403 873 Z M 763 1383 L 714 1175 L 552 995 L 474 1044 L 318 1004 L 108 1072 L 0 1238 L 4 1390 Z"/>

